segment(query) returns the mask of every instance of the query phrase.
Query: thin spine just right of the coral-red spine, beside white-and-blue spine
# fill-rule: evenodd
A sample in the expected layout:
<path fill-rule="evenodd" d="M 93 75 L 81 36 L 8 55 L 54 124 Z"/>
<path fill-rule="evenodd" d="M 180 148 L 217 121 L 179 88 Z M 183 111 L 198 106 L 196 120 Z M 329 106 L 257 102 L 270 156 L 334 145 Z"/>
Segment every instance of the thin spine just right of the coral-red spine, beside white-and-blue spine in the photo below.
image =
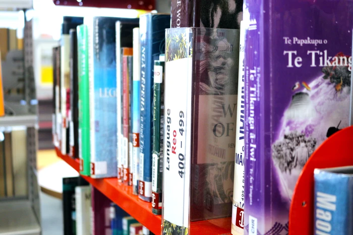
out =
<path fill-rule="evenodd" d="M 128 57 L 129 68 L 129 185 L 133 180 L 133 55 Z"/>

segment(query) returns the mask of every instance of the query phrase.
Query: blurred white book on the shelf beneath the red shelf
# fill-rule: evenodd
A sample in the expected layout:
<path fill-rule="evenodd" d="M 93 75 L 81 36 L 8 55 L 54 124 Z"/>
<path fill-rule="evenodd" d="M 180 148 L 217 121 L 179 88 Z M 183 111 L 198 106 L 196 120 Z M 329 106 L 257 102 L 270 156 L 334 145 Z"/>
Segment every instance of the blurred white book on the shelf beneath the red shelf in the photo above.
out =
<path fill-rule="evenodd" d="M 76 198 L 76 234 L 88 235 L 91 232 L 91 187 L 75 188 Z"/>

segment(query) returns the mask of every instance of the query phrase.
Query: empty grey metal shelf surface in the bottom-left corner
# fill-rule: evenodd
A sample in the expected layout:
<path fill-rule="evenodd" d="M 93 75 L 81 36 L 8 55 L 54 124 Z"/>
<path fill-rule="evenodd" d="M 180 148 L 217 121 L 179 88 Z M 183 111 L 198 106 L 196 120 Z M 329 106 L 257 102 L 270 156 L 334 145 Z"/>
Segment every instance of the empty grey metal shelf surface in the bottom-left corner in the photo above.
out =
<path fill-rule="evenodd" d="M 0 235 L 40 234 L 40 225 L 29 201 L 0 202 Z"/>

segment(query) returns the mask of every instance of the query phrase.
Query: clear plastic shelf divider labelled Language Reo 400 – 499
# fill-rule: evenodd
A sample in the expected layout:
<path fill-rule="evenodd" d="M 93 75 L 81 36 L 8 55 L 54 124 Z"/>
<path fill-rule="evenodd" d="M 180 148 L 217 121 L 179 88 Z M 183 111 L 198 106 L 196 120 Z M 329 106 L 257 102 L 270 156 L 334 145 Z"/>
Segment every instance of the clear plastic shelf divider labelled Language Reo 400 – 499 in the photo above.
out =
<path fill-rule="evenodd" d="M 239 34 L 166 30 L 164 234 L 187 234 L 189 221 L 231 215 Z"/>

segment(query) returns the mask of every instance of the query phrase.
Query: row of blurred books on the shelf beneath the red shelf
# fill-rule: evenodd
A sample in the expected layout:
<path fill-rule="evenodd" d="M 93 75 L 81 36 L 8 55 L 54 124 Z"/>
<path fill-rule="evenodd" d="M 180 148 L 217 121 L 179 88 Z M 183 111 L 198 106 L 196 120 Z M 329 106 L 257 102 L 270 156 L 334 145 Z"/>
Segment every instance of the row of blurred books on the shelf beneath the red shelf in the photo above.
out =
<path fill-rule="evenodd" d="M 81 177 L 63 179 L 63 212 L 64 235 L 153 235 Z"/>

